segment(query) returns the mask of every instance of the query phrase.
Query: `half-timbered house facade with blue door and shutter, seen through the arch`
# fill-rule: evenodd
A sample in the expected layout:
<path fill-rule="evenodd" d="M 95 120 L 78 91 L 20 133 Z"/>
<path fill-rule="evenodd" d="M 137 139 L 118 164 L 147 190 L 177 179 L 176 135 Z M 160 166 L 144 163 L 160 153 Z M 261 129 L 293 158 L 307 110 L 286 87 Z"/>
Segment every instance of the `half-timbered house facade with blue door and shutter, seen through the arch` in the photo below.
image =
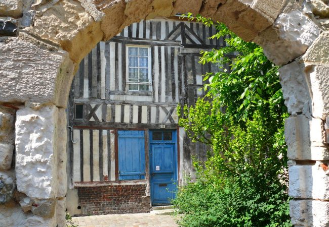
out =
<path fill-rule="evenodd" d="M 202 75 L 218 71 L 198 64 L 200 50 L 225 43 L 208 39 L 215 27 L 177 19 L 134 23 L 81 61 L 68 104 L 72 214 L 169 204 L 193 177 L 191 156 L 205 159 L 205 146 L 178 127 L 177 105 L 194 104 Z"/>

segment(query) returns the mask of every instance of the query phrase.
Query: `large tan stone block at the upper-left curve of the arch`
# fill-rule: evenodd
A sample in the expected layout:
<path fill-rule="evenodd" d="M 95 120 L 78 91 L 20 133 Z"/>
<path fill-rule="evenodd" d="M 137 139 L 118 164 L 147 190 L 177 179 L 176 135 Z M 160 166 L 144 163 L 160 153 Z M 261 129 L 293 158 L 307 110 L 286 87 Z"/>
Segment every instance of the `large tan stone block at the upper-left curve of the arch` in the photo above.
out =
<path fill-rule="evenodd" d="M 91 8 L 89 6 L 87 11 Z M 77 1 L 63 0 L 46 8 L 35 7 L 34 26 L 25 30 L 59 43 L 69 52 L 70 59 L 79 63 L 81 59 L 103 38 L 101 13 L 90 15 Z M 79 44 L 83 43 L 83 45 Z"/>

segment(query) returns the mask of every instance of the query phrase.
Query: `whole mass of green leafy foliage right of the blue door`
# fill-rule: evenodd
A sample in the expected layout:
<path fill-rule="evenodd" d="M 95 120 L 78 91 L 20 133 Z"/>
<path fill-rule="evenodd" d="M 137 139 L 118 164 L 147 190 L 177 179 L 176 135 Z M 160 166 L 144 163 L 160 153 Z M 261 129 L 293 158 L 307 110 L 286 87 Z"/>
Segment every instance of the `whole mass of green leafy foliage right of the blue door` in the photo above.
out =
<path fill-rule="evenodd" d="M 200 16 L 196 20 L 213 23 Z M 223 24 L 216 28 L 212 38 L 223 36 L 228 45 L 203 51 L 200 63 L 217 64 L 220 72 L 205 75 L 205 98 L 178 111 L 188 137 L 211 148 L 207 161 L 194 162 L 196 181 L 181 187 L 173 201 L 183 214 L 179 223 L 290 226 L 283 138 L 287 111 L 278 68 L 257 44 Z M 239 55 L 232 59 L 233 53 Z"/>

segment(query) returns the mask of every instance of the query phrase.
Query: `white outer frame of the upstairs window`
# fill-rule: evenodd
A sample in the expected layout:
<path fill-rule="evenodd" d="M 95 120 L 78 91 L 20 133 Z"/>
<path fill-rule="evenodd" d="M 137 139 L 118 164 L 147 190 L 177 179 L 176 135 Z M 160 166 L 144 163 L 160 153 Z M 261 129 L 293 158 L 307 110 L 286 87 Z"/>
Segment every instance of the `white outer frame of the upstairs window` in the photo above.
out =
<path fill-rule="evenodd" d="M 129 82 L 129 47 L 141 47 L 147 48 L 147 67 L 148 67 L 148 82 Z M 145 45 L 126 45 L 126 89 L 127 91 L 134 91 L 134 92 L 148 92 L 152 91 L 152 69 L 151 69 L 151 46 Z M 139 68 L 139 67 L 137 67 Z M 129 90 L 129 84 L 138 84 L 138 85 L 148 85 L 148 90 Z"/>

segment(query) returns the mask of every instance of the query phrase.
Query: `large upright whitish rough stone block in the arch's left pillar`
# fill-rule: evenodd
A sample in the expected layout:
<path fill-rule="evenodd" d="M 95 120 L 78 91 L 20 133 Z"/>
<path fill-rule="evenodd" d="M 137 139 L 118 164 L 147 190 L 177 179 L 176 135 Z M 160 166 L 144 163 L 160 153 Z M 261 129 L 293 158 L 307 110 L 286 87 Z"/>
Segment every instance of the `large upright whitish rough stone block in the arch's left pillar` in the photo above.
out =
<path fill-rule="evenodd" d="M 58 108 L 53 105 L 41 106 L 38 110 L 25 107 L 17 111 L 17 190 L 31 198 L 50 199 L 57 194 L 57 147 L 66 143 L 55 136 L 59 127 L 58 113 Z"/>

